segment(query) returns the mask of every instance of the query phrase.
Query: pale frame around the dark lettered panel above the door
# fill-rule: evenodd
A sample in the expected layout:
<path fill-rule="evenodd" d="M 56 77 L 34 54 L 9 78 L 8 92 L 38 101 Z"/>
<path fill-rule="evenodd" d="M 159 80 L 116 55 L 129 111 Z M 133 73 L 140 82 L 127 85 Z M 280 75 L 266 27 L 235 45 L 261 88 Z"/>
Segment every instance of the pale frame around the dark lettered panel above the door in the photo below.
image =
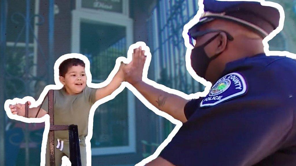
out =
<path fill-rule="evenodd" d="M 118 12 L 108 12 L 102 9 L 89 9 L 89 8 L 84 8 L 81 7 L 83 0 L 76 0 L 76 9 L 77 10 L 82 10 L 82 11 L 86 11 L 86 12 L 107 12 L 109 14 L 120 14 L 120 15 L 126 15 L 128 16 L 129 14 L 129 3 L 128 0 L 122 0 L 122 13 L 118 13 Z M 85 0 L 84 0 L 85 1 Z"/>

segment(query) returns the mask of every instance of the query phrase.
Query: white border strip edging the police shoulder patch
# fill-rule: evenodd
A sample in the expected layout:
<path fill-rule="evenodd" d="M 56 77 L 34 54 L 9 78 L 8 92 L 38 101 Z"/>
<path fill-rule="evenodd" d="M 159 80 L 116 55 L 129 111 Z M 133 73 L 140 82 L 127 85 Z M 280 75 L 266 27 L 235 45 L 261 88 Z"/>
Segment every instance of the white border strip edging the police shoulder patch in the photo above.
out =
<path fill-rule="evenodd" d="M 214 103 L 202 104 L 202 102 L 204 101 L 204 99 L 203 99 L 203 100 L 200 102 L 200 107 L 213 106 L 213 105 L 219 104 L 219 103 L 221 103 L 221 102 L 223 102 L 223 101 L 225 101 L 225 100 L 229 100 L 229 99 L 231 99 L 231 98 L 233 98 L 233 97 L 236 97 L 236 96 L 242 95 L 242 94 L 244 94 L 244 93 L 247 91 L 247 84 L 246 84 L 246 81 L 245 81 L 244 77 L 243 77 L 241 74 L 239 74 L 239 73 L 237 73 L 237 72 L 234 72 L 234 73 L 226 74 L 225 76 L 228 76 L 228 75 L 236 75 L 237 77 L 239 77 L 240 81 L 242 82 L 242 87 L 243 87 L 242 91 L 237 92 L 237 93 L 234 93 L 234 94 L 232 94 L 232 95 L 230 95 L 230 96 L 227 96 L 227 97 L 225 97 L 225 98 L 223 98 L 223 99 L 221 99 L 221 100 L 218 100 L 218 101 L 216 101 L 216 102 L 214 102 Z M 223 77 L 225 77 L 225 76 L 223 76 Z"/>

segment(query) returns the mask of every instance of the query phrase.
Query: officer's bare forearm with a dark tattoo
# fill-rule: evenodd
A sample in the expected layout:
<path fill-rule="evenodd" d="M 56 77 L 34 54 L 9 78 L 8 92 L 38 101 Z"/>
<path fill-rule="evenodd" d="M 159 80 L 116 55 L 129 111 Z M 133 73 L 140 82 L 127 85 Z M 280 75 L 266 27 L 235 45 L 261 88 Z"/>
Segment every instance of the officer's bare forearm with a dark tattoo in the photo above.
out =
<path fill-rule="evenodd" d="M 152 105 L 159 110 L 168 113 L 173 118 L 186 122 L 184 106 L 188 100 L 163 90 L 157 89 L 143 81 L 133 85 Z"/>

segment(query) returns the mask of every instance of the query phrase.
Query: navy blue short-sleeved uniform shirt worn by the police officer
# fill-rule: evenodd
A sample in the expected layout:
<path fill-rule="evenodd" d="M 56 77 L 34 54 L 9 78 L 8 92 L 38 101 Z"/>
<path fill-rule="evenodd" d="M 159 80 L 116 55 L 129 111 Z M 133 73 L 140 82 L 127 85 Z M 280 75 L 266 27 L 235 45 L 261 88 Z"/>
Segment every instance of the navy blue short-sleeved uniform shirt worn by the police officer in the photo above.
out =
<path fill-rule="evenodd" d="M 177 166 L 295 166 L 296 61 L 258 54 L 226 65 L 160 156 Z"/>

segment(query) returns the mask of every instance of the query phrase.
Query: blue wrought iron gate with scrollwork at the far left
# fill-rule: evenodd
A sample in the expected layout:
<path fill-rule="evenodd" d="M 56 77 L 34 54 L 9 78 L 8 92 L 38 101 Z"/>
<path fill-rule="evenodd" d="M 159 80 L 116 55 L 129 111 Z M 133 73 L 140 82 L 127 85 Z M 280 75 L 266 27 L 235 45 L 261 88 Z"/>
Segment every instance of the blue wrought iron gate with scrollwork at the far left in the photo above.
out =
<path fill-rule="evenodd" d="M 54 0 L 48 0 L 48 18 L 39 12 L 40 0 L 1 0 L 1 61 L 0 61 L 0 105 L 6 99 L 14 97 L 35 96 L 41 93 L 44 86 L 53 83 L 54 64 Z M 48 21 L 48 45 L 41 45 L 38 40 L 36 27 Z M 48 48 L 45 53 L 44 47 Z M 44 73 L 37 72 L 38 59 L 46 63 Z M 41 92 L 40 92 L 41 89 Z M 2 108 L 2 110 L 4 110 Z M 25 165 L 30 164 L 30 143 L 34 142 L 30 136 L 29 124 L 12 121 L 7 118 L 5 111 L 0 114 L 0 165 L 9 165 L 5 161 L 8 157 L 9 145 L 5 144 L 10 135 L 7 124 L 20 123 L 23 127 L 25 147 Z M 17 134 L 17 133 L 16 133 Z M 41 136 L 42 137 L 42 136 Z M 13 143 L 13 142 L 12 142 Z M 18 145 L 20 146 L 20 145 Z M 5 153 L 6 152 L 6 153 Z M 17 154 L 12 154 L 17 155 Z"/>

